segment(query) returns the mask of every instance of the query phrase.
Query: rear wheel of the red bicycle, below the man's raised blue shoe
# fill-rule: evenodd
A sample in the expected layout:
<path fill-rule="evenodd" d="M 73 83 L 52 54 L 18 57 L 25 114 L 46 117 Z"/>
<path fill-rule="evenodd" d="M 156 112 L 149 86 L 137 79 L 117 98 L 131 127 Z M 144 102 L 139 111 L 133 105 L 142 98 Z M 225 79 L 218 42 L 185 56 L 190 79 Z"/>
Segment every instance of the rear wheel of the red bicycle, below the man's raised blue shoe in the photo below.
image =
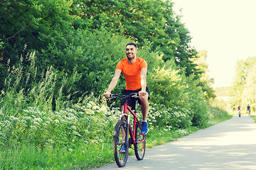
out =
<path fill-rule="evenodd" d="M 135 127 L 135 144 L 134 152 L 136 158 L 140 161 L 144 158 L 146 151 L 146 135 L 142 135 L 139 123 L 136 123 Z"/>

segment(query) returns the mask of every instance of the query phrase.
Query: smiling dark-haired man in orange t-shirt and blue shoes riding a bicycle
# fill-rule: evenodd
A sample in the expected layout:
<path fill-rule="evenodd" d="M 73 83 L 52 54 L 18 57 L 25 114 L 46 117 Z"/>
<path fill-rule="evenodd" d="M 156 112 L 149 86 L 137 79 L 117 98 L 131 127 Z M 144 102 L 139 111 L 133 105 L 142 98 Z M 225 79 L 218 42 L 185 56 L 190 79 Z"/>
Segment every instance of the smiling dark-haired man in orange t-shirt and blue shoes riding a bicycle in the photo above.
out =
<path fill-rule="evenodd" d="M 148 132 L 146 116 L 149 112 L 149 89 L 146 86 L 147 64 L 145 60 L 136 56 L 137 52 L 137 45 L 133 42 L 126 45 L 125 53 L 127 58 L 118 62 L 116 67 L 117 69 L 114 72 L 114 77 L 104 96 L 106 98 L 110 98 L 111 91 L 117 85 L 117 81 L 122 72 L 126 81 L 124 95 L 139 93 L 139 103 L 141 105 L 143 115 L 142 134 L 146 134 Z M 128 100 L 129 108 L 133 108 L 134 104 L 135 102 L 132 98 L 131 100 Z M 124 101 L 122 101 L 121 106 L 121 112 L 124 113 Z"/>

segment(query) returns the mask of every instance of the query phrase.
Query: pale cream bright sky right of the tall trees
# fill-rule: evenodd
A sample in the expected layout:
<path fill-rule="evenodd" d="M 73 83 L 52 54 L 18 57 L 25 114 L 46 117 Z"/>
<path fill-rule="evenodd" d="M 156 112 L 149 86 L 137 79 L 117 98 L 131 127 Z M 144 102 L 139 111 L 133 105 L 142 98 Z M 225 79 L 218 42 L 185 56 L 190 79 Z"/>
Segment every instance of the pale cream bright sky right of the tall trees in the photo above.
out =
<path fill-rule="evenodd" d="M 237 62 L 256 56 L 256 0 L 172 1 L 190 32 L 191 46 L 207 51 L 213 87 L 231 86 Z"/>

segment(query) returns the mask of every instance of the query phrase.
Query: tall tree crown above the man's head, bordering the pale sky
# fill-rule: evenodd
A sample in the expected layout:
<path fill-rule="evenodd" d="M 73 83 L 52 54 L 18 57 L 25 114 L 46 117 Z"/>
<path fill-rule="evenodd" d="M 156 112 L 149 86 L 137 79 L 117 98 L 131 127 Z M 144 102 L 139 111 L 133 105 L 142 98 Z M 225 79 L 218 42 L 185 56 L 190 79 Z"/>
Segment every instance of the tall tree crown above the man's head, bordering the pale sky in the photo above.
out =
<path fill-rule="evenodd" d="M 153 42 L 152 50 L 164 52 L 165 61 L 174 60 L 186 69 L 186 76 L 196 74 L 199 78 L 201 72 L 193 64 L 197 52 L 190 47 L 191 36 L 172 6 L 172 1 L 76 0 L 71 13 L 92 23 L 92 29 L 104 26 L 140 45 Z"/>

